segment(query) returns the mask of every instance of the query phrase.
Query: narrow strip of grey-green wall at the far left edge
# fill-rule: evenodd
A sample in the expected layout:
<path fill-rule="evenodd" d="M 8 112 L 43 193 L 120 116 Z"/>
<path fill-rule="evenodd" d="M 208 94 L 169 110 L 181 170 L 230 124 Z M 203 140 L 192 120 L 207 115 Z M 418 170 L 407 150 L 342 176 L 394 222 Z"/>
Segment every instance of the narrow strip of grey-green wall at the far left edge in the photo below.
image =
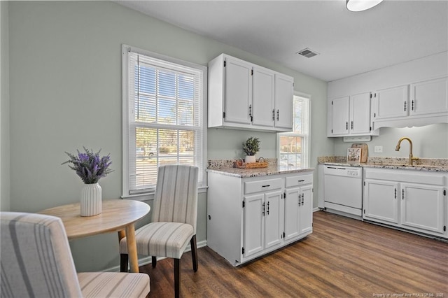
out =
<path fill-rule="evenodd" d="M 0 1 L 0 211 L 10 209 L 8 2 Z"/>

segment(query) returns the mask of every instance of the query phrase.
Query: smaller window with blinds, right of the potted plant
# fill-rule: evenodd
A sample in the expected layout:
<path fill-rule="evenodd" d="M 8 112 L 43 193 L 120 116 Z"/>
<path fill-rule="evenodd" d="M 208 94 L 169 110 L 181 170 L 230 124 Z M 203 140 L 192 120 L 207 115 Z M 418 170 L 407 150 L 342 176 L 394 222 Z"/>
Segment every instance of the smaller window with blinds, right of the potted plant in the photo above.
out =
<path fill-rule="evenodd" d="M 293 132 L 278 134 L 281 166 L 309 166 L 309 98 L 294 96 Z"/>

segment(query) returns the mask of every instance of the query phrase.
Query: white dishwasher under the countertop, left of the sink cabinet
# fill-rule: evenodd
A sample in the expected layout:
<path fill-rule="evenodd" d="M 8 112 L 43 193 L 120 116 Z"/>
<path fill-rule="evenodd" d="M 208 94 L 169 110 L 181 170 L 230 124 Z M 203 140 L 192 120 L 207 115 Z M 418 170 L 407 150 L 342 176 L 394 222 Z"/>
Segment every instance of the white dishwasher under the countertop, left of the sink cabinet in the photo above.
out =
<path fill-rule="evenodd" d="M 325 165 L 323 175 L 323 206 L 327 211 L 362 219 L 363 168 Z"/>

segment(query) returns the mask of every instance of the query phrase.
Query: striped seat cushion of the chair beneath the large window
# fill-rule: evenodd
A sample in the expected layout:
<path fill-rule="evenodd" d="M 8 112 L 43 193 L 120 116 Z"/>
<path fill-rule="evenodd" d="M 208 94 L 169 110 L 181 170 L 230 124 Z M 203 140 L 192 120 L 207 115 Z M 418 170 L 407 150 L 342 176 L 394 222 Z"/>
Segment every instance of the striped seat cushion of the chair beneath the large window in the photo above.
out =
<path fill-rule="evenodd" d="M 135 232 L 137 253 L 180 259 L 193 235 L 193 227 L 188 224 L 151 222 Z M 126 238 L 120 241 L 120 253 L 127 253 Z"/>

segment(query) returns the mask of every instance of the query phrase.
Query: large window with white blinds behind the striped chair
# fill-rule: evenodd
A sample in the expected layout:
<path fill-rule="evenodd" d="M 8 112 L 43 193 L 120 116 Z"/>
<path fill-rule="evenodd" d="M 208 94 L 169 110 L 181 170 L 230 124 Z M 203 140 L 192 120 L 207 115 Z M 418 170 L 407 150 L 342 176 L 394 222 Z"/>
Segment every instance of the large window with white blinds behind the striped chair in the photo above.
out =
<path fill-rule="evenodd" d="M 132 48 L 123 50 L 123 55 L 127 59 L 124 195 L 153 191 L 158 167 L 164 164 L 195 165 L 203 173 L 204 66 L 171 62 Z"/>

